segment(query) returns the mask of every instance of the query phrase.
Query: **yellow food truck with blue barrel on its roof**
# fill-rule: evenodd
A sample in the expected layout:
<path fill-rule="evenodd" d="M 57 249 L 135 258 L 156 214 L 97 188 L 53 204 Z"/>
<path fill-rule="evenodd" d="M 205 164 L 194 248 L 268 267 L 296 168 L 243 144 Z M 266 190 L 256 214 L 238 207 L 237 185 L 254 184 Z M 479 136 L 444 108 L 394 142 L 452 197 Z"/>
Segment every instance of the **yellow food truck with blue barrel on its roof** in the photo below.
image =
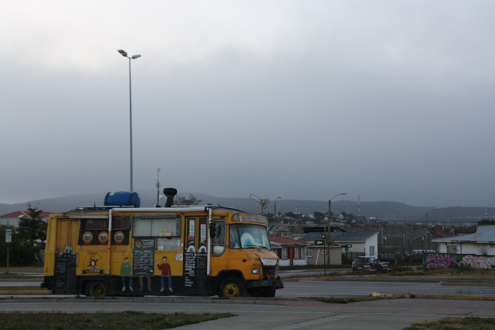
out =
<path fill-rule="evenodd" d="M 48 221 L 42 287 L 93 297 L 273 297 L 284 285 L 266 217 L 222 206 L 142 208 L 135 192 L 108 193 Z"/>

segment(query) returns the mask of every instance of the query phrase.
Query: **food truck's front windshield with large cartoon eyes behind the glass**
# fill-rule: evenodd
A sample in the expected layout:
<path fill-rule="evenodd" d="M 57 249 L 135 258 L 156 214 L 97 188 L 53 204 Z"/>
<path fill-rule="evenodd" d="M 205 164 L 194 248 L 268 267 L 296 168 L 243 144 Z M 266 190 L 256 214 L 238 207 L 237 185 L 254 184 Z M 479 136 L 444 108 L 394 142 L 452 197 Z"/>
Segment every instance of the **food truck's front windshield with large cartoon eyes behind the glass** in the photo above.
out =
<path fill-rule="evenodd" d="M 266 228 L 259 225 L 231 225 L 231 248 L 262 248 L 270 250 L 270 240 Z"/>

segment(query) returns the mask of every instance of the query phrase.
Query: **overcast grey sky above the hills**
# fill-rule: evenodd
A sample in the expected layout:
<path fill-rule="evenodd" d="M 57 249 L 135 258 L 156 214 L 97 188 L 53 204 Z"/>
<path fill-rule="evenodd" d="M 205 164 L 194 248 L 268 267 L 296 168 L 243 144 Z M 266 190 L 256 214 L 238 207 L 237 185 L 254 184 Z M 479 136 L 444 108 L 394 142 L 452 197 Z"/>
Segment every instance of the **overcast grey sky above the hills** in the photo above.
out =
<path fill-rule="evenodd" d="M 495 205 L 495 1 L 3 0 L 0 202 Z M 342 196 L 344 198 L 344 196 Z"/>

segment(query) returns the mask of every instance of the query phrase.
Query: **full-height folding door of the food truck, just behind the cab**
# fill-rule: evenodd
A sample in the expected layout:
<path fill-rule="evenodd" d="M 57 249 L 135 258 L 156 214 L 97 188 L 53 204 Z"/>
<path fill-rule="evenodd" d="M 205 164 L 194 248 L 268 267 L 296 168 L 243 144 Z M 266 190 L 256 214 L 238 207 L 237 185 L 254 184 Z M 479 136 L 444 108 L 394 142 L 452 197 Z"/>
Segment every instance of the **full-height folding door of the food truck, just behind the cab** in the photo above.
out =
<path fill-rule="evenodd" d="M 186 217 L 186 244 L 184 244 L 185 295 L 207 294 L 208 219 Z"/>

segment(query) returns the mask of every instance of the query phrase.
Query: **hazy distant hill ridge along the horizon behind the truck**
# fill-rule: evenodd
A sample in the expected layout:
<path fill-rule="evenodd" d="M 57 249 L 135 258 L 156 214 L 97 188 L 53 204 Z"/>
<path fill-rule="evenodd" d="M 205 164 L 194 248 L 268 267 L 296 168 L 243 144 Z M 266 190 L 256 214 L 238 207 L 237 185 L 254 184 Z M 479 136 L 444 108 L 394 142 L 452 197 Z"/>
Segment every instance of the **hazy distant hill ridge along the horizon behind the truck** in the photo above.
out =
<path fill-rule="evenodd" d="M 38 208 L 44 211 L 58 213 L 72 210 L 78 206 L 102 206 L 103 200 L 107 192 L 69 195 L 65 197 L 40 199 L 30 201 L 32 206 L 38 205 Z M 232 197 L 216 197 L 195 192 L 182 192 L 179 194 L 186 197 L 192 193 L 198 199 L 201 199 L 201 204 L 213 204 L 222 206 L 231 206 L 246 210 L 252 213 L 260 213 L 259 204 L 250 198 L 232 198 Z M 142 207 L 153 207 L 156 203 L 156 191 L 145 191 L 139 193 Z M 160 200 L 163 206 L 165 199 Z M 26 203 L 17 204 L 1 204 L 0 215 L 25 210 Z M 277 200 L 278 212 L 293 212 L 302 214 L 313 214 L 314 212 L 328 212 L 328 201 L 321 200 Z M 409 206 L 404 203 L 393 201 L 378 201 L 378 202 L 363 202 L 360 203 L 360 213 L 366 218 L 373 217 L 378 221 L 389 222 L 415 222 L 415 223 L 437 223 L 447 222 L 476 222 L 481 219 L 493 219 L 495 215 L 495 207 L 447 207 L 437 209 L 434 207 Z M 273 213 L 274 203 L 271 201 L 263 213 Z M 332 201 L 332 213 L 340 214 L 348 212 L 354 216 L 358 215 L 357 201 L 337 200 Z M 428 214 L 428 216 L 427 216 Z"/>

